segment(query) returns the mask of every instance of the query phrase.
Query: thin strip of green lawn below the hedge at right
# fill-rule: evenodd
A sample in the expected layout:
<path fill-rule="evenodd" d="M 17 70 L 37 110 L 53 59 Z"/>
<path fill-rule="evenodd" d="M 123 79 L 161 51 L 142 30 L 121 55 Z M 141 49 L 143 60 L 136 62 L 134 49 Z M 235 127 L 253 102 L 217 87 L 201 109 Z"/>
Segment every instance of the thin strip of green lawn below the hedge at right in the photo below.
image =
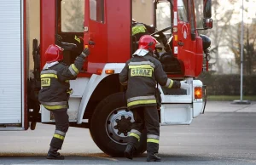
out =
<path fill-rule="evenodd" d="M 240 95 L 208 95 L 207 100 L 212 100 L 212 101 L 240 100 Z M 242 100 L 256 101 L 256 95 L 242 96 Z"/>

